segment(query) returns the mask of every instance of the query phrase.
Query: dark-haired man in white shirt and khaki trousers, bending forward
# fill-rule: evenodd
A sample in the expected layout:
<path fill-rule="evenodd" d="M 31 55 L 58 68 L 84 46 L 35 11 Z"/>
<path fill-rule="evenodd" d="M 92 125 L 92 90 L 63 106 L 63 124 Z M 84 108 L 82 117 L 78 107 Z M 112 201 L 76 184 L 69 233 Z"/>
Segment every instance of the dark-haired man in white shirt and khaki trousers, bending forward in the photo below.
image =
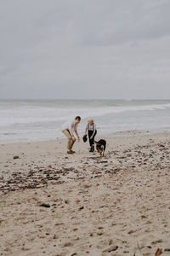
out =
<path fill-rule="evenodd" d="M 74 136 L 74 132 L 77 135 L 78 142 L 80 142 L 80 137 L 77 132 L 77 126 L 81 121 L 81 117 L 77 116 L 75 120 L 72 122 L 67 122 L 62 126 L 62 132 L 65 134 L 65 136 L 68 138 L 68 143 L 67 143 L 67 154 L 73 154 L 75 151 L 72 150 L 72 146 L 76 142 L 76 138 Z"/>

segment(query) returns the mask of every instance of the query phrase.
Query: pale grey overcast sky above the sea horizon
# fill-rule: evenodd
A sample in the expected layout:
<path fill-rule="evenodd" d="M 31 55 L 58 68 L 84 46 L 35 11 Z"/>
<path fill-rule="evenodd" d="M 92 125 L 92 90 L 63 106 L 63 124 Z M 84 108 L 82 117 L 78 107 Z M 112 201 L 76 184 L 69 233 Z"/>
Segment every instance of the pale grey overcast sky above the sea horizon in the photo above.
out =
<path fill-rule="evenodd" d="M 169 0 L 0 0 L 0 98 L 169 99 Z"/>

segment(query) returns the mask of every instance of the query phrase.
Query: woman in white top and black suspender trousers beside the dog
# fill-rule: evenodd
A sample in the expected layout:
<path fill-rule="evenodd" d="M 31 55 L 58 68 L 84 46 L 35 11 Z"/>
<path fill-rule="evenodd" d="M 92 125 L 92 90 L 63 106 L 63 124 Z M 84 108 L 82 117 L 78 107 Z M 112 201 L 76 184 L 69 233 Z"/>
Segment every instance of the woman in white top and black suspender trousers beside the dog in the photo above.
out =
<path fill-rule="evenodd" d="M 90 151 L 94 152 L 94 137 L 96 136 L 97 130 L 96 125 L 94 124 L 94 119 L 88 120 L 88 125 L 86 126 L 84 136 L 87 134 L 88 131 L 88 138 L 89 138 L 89 144 L 90 144 Z"/>

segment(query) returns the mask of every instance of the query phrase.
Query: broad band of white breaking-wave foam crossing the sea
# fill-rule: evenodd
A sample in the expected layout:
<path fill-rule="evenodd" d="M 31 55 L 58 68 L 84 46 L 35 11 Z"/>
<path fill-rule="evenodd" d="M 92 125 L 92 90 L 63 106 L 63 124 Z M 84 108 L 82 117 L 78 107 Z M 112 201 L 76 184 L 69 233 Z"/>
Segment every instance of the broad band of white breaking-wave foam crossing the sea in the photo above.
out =
<path fill-rule="evenodd" d="M 66 120 L 74 119 L 75 116 L 81 115 L 82 119 L 88 119 L 89 117 L 99 117 L 111 113 L 123 113 L 123 112 L 138 112 L 138 111 L 154 111 L 154 110 L 166 110 L 170 108 L 170 103 L 167 104 L 153 104 L 144 106 L 117 106 L 117 107 L 94 107 L 94 106 L 73 106 L 70 108 L 61 108 L 54 106 L 54 108 L 10 108 L 1 109 L 0 126 L 7 125 L 26 125 L 34 123 L 50 123 L 50 122 L 65 122 Z"/>

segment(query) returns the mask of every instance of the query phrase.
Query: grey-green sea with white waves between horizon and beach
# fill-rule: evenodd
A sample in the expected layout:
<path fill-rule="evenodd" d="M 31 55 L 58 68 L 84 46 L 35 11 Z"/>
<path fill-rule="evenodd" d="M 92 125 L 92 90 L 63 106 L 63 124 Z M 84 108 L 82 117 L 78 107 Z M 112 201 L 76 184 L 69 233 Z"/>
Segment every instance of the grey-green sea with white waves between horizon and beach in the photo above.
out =
<path fill-rule="evenodd" d="M 98 137 L 119 131 L 170 131 L 170 100 L 0 100 L 0 143 L 65 137 L 66 121 L 80 115 L 82 137 L 88 119 Z"/>

